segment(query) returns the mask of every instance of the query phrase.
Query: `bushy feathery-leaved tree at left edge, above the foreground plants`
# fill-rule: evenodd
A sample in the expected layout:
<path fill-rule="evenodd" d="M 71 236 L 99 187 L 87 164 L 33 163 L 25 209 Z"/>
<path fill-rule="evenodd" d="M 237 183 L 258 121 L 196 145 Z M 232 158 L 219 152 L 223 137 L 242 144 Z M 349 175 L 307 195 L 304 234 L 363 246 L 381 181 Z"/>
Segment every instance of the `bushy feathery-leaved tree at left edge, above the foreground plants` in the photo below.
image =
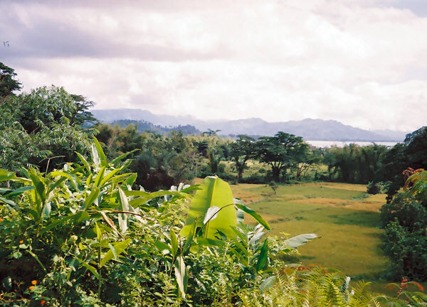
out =
<path fill-rule="evenodd" d="M 95 129 L 83 129 L 78 104 L 62 87 L 40 87 L 0 104 L 0 167 L 19 171 L 33 165 L 46 171 L 85 152 Z"/>

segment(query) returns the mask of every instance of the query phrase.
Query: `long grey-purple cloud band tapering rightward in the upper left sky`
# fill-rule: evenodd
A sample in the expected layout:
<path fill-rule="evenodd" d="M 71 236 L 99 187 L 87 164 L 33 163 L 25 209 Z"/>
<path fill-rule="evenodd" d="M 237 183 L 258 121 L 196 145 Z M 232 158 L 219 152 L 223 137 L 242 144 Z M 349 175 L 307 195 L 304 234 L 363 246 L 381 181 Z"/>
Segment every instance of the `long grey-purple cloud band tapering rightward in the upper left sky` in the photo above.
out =
<path fill-rule="evenodd" d="M 0 11 L 5 6 L 0 4 Z M 226 53 L 179 50 L 147 43 L 118 43 L 117 38 L 87 33 L 80 28 L 51 18 L 31 21 L 31 28 L 9 11 L 0 20 L 0 60 L 16 58 L 138 58 L 172 61 L 222 58 Z"/>

